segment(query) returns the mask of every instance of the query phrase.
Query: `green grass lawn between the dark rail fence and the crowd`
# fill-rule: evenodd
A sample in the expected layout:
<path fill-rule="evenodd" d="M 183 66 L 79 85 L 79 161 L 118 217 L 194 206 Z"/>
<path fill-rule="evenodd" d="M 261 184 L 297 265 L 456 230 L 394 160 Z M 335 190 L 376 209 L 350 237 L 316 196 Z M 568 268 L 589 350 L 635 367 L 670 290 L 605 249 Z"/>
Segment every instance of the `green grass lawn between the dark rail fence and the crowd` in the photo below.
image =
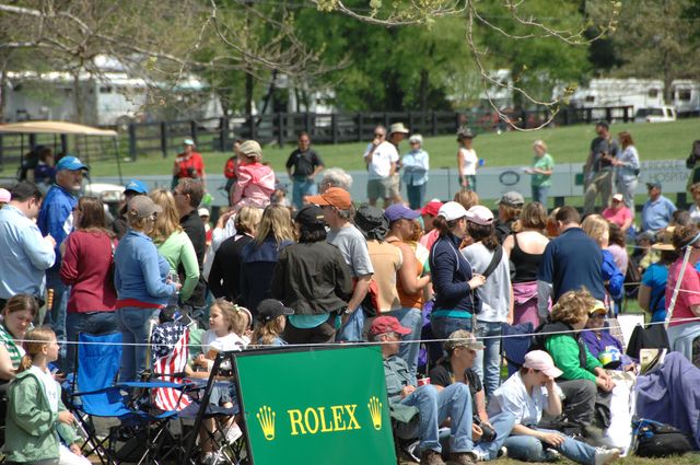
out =
<path fill-rule="evenodd" d="M 692 141 L 700 133 L 700 120 L 681 119 L 674 123 L 657 124 L 616 124 L 610 127 L 611 133 L 629 130 L 635 140 L 642 161 L 685 159 L 690 152 Z M 501 135 L 480 135 L 475 140 L 475 149 L 488 166 L 525 165 L 533 156 L 530 149 L 535 139 L 542 139 L 549 146 L 549 153 L 558 163 L 585 161 L 591 140 L 595 137 L 593 125 L 576 125 L 560 128 L 542 129 L 535 132 L 509 131 Z M 362 153 L 366 142 L 342 143 L 337 146 L 316 146 L 326 166 L 340 166 L 345 170 L 363 170 Z M 430 153 L 431 166 L 434 168 L 455 166 L 457 142 L 454 136 L 425 138 L 424 149 Z M 269 146 L 264 148 L 264 158 L 275 170 L 283 171 L 284 162 L 294 146 Z M 406 142 L 401 150 L 408 150 Z M 174 155 L 174 154 L 173 154 Z M 229 153 L 205 152 L 207 171 L 211 174 L 222 173 Z M 174 156 L 173 156 L 174 158 Z M 173 158 L 163 159 L 160 154 L 142 155 L 136 162 L 125 162 L 121 170 L 125 176 L 170 174 Z M 7 170 L 5 170 L 7 171 Z M 113 176 L 117 173 L 115 162 L 95 162 L 92 164 L 93 176 Z"/>

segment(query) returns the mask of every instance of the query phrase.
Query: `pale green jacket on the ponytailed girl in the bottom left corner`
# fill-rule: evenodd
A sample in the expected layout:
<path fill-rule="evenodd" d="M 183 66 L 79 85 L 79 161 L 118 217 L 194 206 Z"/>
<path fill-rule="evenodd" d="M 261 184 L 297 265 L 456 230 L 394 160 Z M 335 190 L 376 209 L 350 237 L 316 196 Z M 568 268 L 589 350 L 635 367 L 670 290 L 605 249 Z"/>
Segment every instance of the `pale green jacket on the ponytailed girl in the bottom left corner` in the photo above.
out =
<path fill-rule="evenodd" d="M 58 410 L 66 410 L 59 399 Z M 8 462 L 35 462 L 58 458 L 59 434 L 67 444 L 78 437 L 50 411 L 42 381 L 23 371 L 10 383 L 5 420 L 4 454 Z"/>

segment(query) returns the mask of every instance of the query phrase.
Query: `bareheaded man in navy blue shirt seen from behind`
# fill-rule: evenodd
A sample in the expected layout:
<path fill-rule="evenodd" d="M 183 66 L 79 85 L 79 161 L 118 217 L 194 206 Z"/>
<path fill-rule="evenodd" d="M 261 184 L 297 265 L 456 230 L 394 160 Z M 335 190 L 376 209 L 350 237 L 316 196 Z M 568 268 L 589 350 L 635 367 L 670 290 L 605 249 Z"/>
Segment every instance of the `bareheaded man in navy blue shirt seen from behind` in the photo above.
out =
<path fill-rule="evenodd" d="M 537 313 L 549 316 L 552 303 L 567 291 L 586 288 L 597 300 L 605 299 L 600 247 L 581 229 L 581 217 L 573 207 L 561 207 L 555 217 L 559 237 L 547 244 L 537 271 Z"/>

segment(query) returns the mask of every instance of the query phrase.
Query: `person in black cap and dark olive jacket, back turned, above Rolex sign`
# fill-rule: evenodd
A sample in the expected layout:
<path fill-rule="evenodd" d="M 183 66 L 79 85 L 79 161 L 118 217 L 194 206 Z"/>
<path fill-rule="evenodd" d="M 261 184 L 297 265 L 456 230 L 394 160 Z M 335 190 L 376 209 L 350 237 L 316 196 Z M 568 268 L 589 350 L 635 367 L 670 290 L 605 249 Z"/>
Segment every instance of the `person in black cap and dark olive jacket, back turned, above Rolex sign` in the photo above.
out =
<path fill-rule="evenodd" d="M 316 205 L 294 218 L 299 243 L 284 247 L 275 267 L 272 295 L 294 311 L 283 338 L 290 344 L 331 342 L 336 316 L 352 294 L 350 268 L 338 247 L 326 242 L 324 213 Z"/>

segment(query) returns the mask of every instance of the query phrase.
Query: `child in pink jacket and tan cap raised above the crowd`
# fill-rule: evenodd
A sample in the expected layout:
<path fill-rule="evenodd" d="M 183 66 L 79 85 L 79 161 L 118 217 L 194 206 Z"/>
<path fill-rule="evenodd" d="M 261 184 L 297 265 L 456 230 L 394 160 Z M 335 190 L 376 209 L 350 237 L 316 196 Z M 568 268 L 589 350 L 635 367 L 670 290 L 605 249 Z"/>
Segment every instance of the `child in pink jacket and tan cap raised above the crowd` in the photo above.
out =
<path fill-rule="evenodd" d="M 270 197 L 275 191 L 275 172 L 271 167 L 260 163 L 262 149 L 255 140 L 246 140 L 238 149 L 242 160 L 238 164 L 238 179 L 233 190 L 234 211 L 244 206 L 265 208 L 270 205 Z"/>

